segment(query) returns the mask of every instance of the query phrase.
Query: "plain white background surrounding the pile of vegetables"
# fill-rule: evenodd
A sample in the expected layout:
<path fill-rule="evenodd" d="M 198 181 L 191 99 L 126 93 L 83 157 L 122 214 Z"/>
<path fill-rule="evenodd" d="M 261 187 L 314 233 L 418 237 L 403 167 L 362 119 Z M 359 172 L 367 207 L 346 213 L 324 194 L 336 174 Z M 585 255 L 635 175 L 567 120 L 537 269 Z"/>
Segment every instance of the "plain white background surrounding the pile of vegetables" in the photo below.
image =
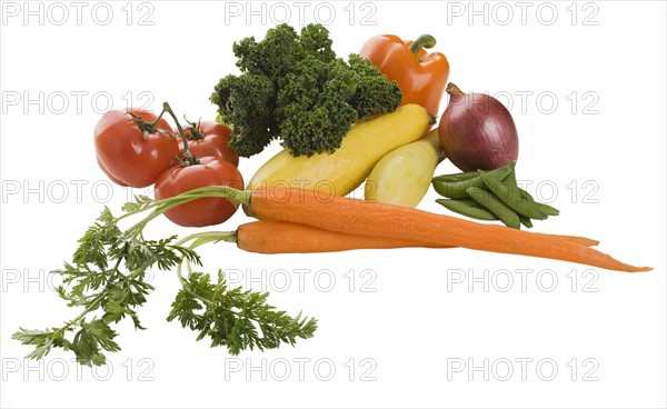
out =
<path fill-rule="evenodd" d="M 664 2 L 77 4 L 2 2 L 2 407 L 667 405 Z M 149 329 L 121 325 L 123 349 L 107 368 L 81 369 L 60 350 L 23 360 L 30 348 L 10 339 L 19 326 L 59 326 L 76 312 L 46 271 L 69 260 L 104 203 L 118 211 L 145 192 L 107 190 L 92 148 L 100 114 L 168 100 L 212 119 L 212 87 L 236 71 L 232 42 L 261 39 L 286 10 L 292 26 L 328 23 L 340 56 L 379 33 L 434 34 L 451 81 L 510 106 L 518 178 L 561 210 L 534 230 L 596 238 L 603 251 L 655 270 L 464 249 L 259 256 L 221 243 L 201 250 L 208 271 L 236 270 L 237 283 L 272 290 L 279 308 L 317 317 L 313 339 L 238 358 L 210 349 L 166 322 L 179 286 L 175 273 L 156 272 L 140 310 Z M 242 159 L 246 180 L 278 150 Z M 437 170 L 451 171 L 449 162 Z M 419 207 L 445 212 L 434 199 Z M 239 212 L 218 229 L 246 220 Z M 186 232 L 166 219 L 150 229 Z"/>

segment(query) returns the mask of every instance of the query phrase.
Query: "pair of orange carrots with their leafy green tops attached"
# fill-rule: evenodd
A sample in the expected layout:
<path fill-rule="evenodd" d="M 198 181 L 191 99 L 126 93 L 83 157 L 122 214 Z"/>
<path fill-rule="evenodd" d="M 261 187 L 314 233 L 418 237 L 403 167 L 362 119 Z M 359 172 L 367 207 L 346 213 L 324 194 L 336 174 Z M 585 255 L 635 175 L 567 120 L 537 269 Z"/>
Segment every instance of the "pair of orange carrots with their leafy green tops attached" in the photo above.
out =
<path fill-rule="evenodd" d="M 169 209 L 192 200 L 225 198 L 243 205 L 249 213 L 272 222 L 246 223 L 236 232 L 198 232 L 181 240 L 176 236 L 150 240 L 145 227 Z M 546 209 L 549 210 L 549 209 Z M 555 209 L 554 209 L 555 210 Z M 549 210 L 551 211 L 551 210 Z M 118 223 L 130 216 L 148 212 L 122 231 Z M 444 233 L 445 232 L 445 233 Z M 153 287 L 149 269 L 176 268 L 182 288 L 171 305 L 168 321 L 209 338 L 212 347 L 225 346 L 232 355 L 241 350 L 272 349 L 312 337 L 313 318 L 288 316 L 267 303 L 268 293 L 229 288 L 221 270 L 213 282 L 195 249 L 210 242 L 230 241 L 246 251 L 319 252 L 362 248 L 462 247 L 472 250 L 531 256 L 610 270 L 639 272 L 649 267 L 620 262 L 590 246 L 583 237 L 535 233 L 502 226 L 476 223 L 412 208 L 328 196 L 297 188 L 236 190 L 210 186 L 181 194 L 152 200 L 138 197 L 113 217 L 104 208 L 96 223 L 79 240 L 71 262 L 54 273 L 62 277 L 59 296 L 70 307 L 83 311 L 61 327 L 43 331 L 20 329 L 13 338 L 34 346 L 29 358 L 40 359 L 52 348 L 71 350 L 81 365 L 103 365 L 104 351 L 120 350 L 111 325 L 129 317 L 136 329 L 145 329 L 137 309 L 146 303 Z M 183 272 L 187 270 L 187 275 Z M 74 332 L 68 338 L 69 332 Z"/>

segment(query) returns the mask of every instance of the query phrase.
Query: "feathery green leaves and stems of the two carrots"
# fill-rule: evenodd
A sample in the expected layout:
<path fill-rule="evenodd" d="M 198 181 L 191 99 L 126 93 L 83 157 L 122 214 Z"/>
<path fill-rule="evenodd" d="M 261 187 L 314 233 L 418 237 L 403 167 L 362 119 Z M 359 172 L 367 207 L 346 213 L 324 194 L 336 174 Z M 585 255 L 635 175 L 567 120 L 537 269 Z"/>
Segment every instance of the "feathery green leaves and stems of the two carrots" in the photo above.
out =
<path fill-rule="evenodd" d="M 72 261 L 52 271 L 62 278 L 58 287 L 60 298 L 68 301 L 69 307 L 83 310 L 61 327 L 20 328 L 13 333 L 13 339 L 34 346 L 27 358 L 41 359 L 52 348 L 62 348 L 71 350 L 81 365 L 104 365 L 104 351 L 120 350 L 115 341 L 118 333 L 111 325 L 129 317 L 136 329 L 146 329 L 137 310 L 155 289 L 147 279 L 150 269 L 156 267 L 159 270 L 176 268 L 182 285 L 167 319 L 178 318 L 183 327 L 198 331 L 198 340 L 210 337 L 212 347 L 226 346 L 230 353 L 238 355 L 248 348 L 278 348 L 283 342 L 293 345 L 297 338 L 312 337 L 317 329 L 313 318 L 301 318 L 300 313 L 292 318 L 276 310 L 266 302 L 266 292 L 229 288 L 221 270 L 217 282 L 211 282 L 207 273 L 192 272 L 192 265 L 201 266 L 193 249 L 225 240 L 219 232 L 195 233 L 180 241 L 176 236 L 159 240 L 143 238 L 143 228 L 149 221 L 188 200 L 192 200 L 188 194 L 161 201 L 137 197 L 123 206 L 123 215 L 118 218 L 104 208 L 79 240 Z M 126 231 L 118 227 L 126 217 L 151 209 L 148 217 Z M 183 265 L 190 271 L 188 278 L 181 275 Z"/>

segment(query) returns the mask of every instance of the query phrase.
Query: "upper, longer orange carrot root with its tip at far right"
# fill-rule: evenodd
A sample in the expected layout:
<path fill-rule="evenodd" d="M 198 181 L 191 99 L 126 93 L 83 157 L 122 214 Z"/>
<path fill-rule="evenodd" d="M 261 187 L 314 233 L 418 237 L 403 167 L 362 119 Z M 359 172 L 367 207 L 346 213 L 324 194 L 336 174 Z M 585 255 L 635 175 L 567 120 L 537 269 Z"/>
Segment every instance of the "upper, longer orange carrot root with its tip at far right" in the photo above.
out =
<path fill-rule="evenodd" d="M 626 265 L 564 238 L 315 190 L 258 188 L 251 191 L 249 211 L 261 218 L 309 225 L 348 235 L 531 256 L 628 272 L 651 269 Z"/>

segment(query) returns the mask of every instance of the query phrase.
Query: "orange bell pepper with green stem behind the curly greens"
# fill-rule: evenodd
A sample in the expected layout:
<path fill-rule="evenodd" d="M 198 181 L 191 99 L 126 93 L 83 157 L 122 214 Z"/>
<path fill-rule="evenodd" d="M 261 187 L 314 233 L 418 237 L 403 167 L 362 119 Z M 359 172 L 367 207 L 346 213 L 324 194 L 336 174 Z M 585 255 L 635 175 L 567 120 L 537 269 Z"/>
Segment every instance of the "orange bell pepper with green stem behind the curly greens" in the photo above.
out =
<path fill-rule="evenodd" d="M 424 50 L 435 44 L 436 39 L 429 34 L 415 41 L 390 34 L 376 36 L 361 46 L 359 54 L 398 83 L 402 92 L 401 104 L 417 103 L 430 114 L 438 116 L 449 78 L 449 62 L 441 52 Z"/>

